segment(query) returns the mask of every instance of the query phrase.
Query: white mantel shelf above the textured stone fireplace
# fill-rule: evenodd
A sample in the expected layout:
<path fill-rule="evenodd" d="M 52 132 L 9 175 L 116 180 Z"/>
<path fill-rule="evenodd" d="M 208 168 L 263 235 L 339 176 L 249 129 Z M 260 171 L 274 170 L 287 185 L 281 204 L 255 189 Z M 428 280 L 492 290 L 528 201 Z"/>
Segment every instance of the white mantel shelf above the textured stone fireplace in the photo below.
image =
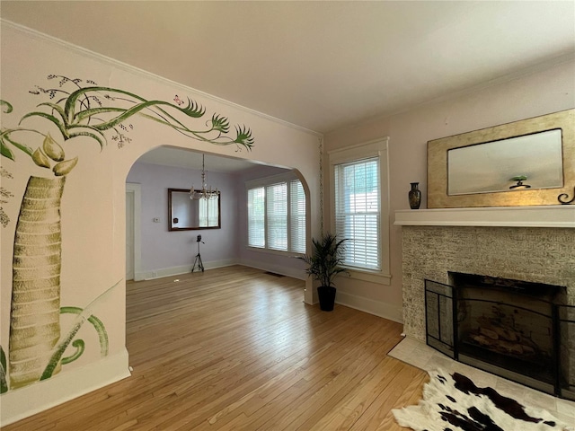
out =
<path fill-rule="evenodd" d="M 394 224 L 402 226 L 567 227 L 575 229 L 575 205 L 402 209 Z"/>

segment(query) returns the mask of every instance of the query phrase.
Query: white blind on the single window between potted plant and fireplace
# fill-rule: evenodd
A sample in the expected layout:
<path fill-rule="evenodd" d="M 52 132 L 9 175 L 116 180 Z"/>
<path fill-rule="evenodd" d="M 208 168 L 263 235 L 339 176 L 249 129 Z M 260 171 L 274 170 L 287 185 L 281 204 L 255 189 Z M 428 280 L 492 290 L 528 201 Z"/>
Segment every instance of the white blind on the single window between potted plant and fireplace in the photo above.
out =
<path fill-rule="evenodd" d="M 346 242 L 344 264 L 381 268 L 379 158 L 334 165 L 335 231 Z"/>

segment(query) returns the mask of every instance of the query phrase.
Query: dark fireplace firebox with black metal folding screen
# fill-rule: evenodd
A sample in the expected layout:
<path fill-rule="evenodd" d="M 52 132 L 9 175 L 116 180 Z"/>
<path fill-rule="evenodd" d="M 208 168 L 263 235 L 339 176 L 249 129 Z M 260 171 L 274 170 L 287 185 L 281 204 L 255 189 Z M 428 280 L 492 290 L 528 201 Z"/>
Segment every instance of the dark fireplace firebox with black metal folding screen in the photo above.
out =
<path fill-rule="evenodd" d="M 449 273 L 425 280 L 426 339 L 467 365 L 575 400 L 575 306 L 564 286 Z"/>

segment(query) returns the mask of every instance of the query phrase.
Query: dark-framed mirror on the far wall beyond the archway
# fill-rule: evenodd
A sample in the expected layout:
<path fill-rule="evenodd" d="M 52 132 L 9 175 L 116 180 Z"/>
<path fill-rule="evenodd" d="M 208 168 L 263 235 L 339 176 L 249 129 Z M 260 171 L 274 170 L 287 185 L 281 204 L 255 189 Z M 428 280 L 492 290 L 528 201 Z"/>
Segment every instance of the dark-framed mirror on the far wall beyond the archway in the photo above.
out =
<path fill-rule="evenodd" d="M 221 198 L 219 193 L 214 198 L 190 199 L 188 189 L 168 189 L 168 231 L 220 229 Z"/>

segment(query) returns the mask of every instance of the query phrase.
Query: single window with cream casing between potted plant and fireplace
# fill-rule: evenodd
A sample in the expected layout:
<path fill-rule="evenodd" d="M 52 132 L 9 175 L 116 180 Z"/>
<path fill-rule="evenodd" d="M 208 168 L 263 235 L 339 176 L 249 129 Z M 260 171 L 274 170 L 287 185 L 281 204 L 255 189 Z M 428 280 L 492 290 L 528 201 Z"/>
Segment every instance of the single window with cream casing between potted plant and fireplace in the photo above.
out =
<path fill-rule="evenodd" d="M 349 239 L 344 265 L 351 269 L 351 277 L 389 284 L 387 138 L 335 150 L 329 156 L 332 232 Z"/>

